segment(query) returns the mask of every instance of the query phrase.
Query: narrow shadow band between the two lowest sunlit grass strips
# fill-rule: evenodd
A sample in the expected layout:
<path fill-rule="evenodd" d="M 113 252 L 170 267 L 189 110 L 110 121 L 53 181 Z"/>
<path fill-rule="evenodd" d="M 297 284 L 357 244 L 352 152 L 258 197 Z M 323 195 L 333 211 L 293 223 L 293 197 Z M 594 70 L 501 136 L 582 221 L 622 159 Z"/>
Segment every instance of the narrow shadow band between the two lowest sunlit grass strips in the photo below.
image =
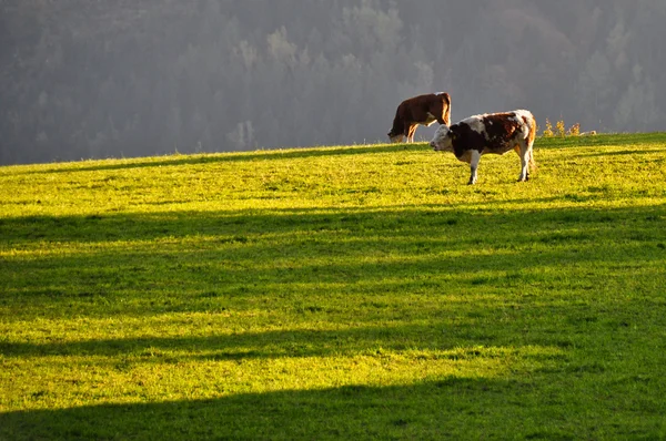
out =
<path fill-rule="evenodd" d="M 501 348 L 495 350 L 495 347 L 488 345 L 497 341 L 497 336 L 474 329 L 474 320 L 461 318 L 456 320 L 455 327 L 433 321 L 427 325 L 364 326 L 335 330 L 290 329 L 214 336 L 118 338 L 72 342 L 0 342 L 0 353 L 7 359 L 53 356 L 131 357 L 125 360 L 129 365 L 170 365 L 192 359 L 224 361 L 355 357 L 359 355 L 375 357 L 377 353 L 386 351 L 436 351 L 432 357 L 455 361 L 484 358 L 488 355 L 496 357 L 503 350 Z M 539 341 L 538 346 L 542 342 L 544 341 Z M 553 339 L 548 343 L 552 348 L 567 349 L 569 347 L 568 342 L 557 339 Z M 519 348 L 509 351 L 516 352 L 519 351 Z M 532 353 L 528 357 L 539 359 L 542 356 Z M 548 359 L 553 357 L 553 353 L 546 353 L 543 357 Z M 565 358 L 564 355 L 556 357 Z M 122 368 L 125 369 L 127 366 L 123 365 Z"/>

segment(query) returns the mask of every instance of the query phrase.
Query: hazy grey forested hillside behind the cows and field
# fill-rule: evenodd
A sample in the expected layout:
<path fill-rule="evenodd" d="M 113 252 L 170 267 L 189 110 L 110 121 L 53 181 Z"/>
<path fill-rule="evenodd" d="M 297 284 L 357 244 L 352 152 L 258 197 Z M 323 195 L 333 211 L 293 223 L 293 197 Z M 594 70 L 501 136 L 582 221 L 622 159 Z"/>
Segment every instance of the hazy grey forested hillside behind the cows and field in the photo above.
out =
<path fill-rule="evenodd" d="M 0 0 L 0 163 L 385 142 L 435 91 L 453 121 L 664 130 L 665 22 L 663 0 Z"/>

